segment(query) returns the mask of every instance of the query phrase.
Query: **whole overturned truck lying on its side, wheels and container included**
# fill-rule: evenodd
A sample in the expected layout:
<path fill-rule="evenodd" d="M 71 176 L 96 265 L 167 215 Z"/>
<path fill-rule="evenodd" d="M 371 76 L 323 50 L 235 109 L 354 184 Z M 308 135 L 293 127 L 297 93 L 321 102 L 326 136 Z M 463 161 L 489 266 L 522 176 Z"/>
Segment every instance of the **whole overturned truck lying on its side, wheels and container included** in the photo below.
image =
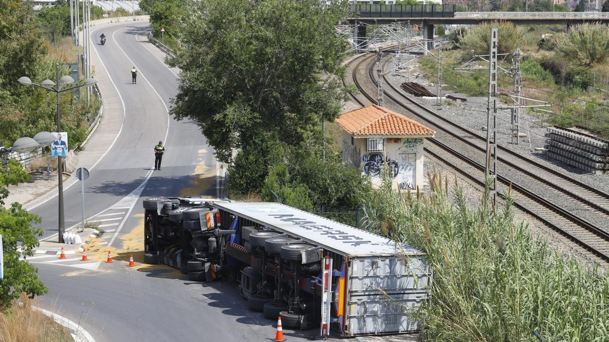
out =
<path fill-rule="evenodd" d="M 279 203 L 149 198 L 144 209 L 144 262 L 238 283 L 249 309 L 286 327 L 418 330 L 412 310 L 432 279 L 415 248 Z"/>

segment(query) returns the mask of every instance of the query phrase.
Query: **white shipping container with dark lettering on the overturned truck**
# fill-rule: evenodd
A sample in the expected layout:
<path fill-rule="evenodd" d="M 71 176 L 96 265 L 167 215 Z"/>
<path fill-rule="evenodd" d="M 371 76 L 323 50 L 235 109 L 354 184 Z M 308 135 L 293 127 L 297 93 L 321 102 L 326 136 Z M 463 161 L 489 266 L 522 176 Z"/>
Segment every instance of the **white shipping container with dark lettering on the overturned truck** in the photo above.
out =
<path fill-rule="evenodd" d="M 236 216 L 239 227 L 273 229 L 322 247 L 333 259 L 331 327 L 342 336 L 419 329 L 412 310 L 429 301 L 432 285 L 421 251 L 284 204 L 212 205 L 224 217 Z"/>

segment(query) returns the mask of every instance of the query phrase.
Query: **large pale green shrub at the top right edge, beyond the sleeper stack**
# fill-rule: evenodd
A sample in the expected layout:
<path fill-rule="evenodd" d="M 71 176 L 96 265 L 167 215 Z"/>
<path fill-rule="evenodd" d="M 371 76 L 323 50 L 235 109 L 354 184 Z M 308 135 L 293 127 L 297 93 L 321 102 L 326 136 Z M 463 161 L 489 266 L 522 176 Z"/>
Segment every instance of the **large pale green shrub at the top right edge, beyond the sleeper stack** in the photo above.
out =
<path fill-rule="evenodd" d="M 555 51 L 579 65 L 593 66 L 609 57 L 609 30 L 605 25 L 582 24 L 556 38 Z"/>

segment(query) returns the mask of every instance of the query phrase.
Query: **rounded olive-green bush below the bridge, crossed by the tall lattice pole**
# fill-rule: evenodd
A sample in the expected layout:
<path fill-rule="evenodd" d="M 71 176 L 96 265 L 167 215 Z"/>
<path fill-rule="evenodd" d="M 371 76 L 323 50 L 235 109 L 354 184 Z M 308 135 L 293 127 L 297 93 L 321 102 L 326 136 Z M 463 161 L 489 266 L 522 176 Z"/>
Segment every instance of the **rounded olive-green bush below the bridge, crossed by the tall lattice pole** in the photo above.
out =
<path fill-rule="evenodd" d="M 478 24 L 471 27 L 465 35 L 463 35 L 460 47 L 466 51 L 466 54 L 473 55 L 488 55 L 488 44 L 490 41 L 491 28 L 498 27 L 499 29 L 499 54 L 509 54 L 519 47 L 524 34 L 512 23 L 493 22 Z"/>

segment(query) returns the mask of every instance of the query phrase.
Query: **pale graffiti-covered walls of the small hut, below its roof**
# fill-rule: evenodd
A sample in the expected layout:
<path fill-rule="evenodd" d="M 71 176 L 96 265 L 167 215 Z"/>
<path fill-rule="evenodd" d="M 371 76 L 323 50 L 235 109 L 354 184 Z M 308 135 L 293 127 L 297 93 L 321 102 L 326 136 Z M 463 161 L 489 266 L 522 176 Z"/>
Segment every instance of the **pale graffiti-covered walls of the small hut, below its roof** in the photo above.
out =
<path fill-rule="evenodd" d="M 381 173 L 388 167 L 396 188 L 423 189 L 423 141 L 423 138 L 384 138 L 382 151 L 368 152 L 367 138 L 352 139 L 345 133 L 343 161 L 361 168 L 377 187 L 381 185 Z"/>

